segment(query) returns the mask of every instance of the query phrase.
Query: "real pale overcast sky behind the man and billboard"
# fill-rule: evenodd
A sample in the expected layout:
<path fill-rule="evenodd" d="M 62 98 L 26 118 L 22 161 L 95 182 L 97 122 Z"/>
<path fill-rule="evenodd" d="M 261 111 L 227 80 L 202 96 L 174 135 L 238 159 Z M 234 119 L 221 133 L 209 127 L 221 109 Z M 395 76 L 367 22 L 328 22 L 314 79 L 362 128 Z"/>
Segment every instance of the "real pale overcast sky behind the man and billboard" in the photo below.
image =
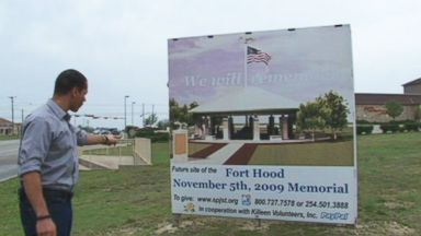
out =
<path fill-rule="evenodd" d="M 399 94 L 421 78 L 420 11 L 419 0 L 2 0 L 0 117 L 12 119 L 12 96 L 20 122 L 73 68 L 89 81 L 78 114 L 121 118 L 75 125 L 121 129 L 125 104 L 127 125 L 167 119 L 169 38 L 335 24 L 351 26 L 355 92 Z"/>

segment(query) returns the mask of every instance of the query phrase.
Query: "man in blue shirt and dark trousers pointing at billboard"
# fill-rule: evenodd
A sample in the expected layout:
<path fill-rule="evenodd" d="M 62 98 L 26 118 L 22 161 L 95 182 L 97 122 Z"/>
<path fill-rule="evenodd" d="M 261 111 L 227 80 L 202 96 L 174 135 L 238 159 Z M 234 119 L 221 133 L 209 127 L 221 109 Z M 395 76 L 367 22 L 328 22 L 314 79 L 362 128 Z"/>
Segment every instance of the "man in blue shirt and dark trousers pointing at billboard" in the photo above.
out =
<path fill-rule="evenodd" d="M 114 135 L 91 135 L 73 127 L 68 110 L 86 101 L 88 81 L 77 70 L 61 72 L 53 98 L 23 123 L 19 191 L 25 235 L 70 235 L 71 197 L 79 177 L 77 145 L 116 144 Z"/>

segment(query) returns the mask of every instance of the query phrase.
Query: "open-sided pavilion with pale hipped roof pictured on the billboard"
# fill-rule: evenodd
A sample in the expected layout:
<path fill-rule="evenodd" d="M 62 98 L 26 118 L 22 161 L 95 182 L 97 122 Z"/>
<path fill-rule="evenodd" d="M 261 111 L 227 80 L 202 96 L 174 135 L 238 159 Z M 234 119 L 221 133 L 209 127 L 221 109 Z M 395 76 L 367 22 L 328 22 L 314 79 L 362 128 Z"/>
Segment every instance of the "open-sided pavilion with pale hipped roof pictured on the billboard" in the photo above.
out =
<path fill-rule="evenodd" d="M 294 137 L 293 123 L 298 107 L 298 102 L 278 94 L 258 87 L 243 87 L 237 93 L 200 104 L 190 113 L 196 121 L 194 135 L 201 139 L 269 140 L 278 137 L 286 140 Z M 236 117 L 243 120 L 241 127 L 235 127 Z M 260 129 L 263 117 L 269 120 L 264 133 Z"/>

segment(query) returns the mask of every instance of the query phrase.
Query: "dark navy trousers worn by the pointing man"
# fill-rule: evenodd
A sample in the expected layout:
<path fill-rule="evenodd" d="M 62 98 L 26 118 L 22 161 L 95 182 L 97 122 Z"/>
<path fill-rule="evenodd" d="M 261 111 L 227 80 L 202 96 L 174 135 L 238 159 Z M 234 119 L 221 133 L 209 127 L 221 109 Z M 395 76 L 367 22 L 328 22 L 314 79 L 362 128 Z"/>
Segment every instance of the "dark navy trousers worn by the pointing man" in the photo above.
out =
<path fill-rule="evenodd" d="M 71 193 L 62 190 L 43 189 L 49 215 L 56 224 L 58 236 L 70 236 L 72 224 Z M 24 190 L 19 190 L 19 206 L 22 226 L 26 236 L 36 235 L 36 215 Z"/>

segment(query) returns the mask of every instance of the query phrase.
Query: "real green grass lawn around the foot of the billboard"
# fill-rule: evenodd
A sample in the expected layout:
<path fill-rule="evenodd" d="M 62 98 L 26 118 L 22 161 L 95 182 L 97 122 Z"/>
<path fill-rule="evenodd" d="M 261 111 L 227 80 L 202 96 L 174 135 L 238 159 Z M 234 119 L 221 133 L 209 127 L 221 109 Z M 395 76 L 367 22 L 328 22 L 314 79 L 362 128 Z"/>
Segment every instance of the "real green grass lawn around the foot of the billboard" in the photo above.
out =
<path fill-rule="evenodd" d="M 82 172 L 73 235 L 421 235 L 421 132 L 363 135 L 359 144 L 359 224 L 335 227 L 207 216 L 172 223 L 168 143 L 153 166 Z M 0 184 L 0 235 L 21 235 L 15 189 Z"/>

